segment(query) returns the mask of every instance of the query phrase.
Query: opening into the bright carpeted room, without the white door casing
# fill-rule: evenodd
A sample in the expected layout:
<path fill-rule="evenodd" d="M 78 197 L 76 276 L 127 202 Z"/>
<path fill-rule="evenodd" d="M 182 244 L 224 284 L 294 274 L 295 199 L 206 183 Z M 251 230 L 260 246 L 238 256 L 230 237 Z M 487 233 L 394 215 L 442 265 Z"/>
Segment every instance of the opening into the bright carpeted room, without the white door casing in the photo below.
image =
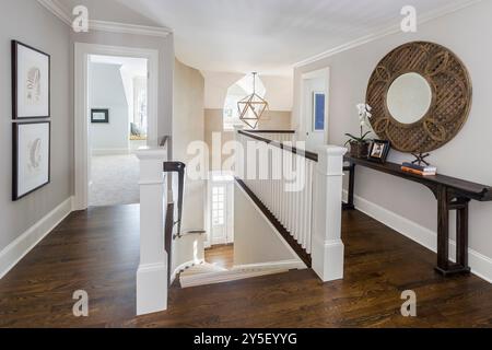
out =
<path fill-rule="evenodd" d="M 148 141 L 148 60 L 89 56 L 89 206 L 140 202 L 134 151 Z"/>

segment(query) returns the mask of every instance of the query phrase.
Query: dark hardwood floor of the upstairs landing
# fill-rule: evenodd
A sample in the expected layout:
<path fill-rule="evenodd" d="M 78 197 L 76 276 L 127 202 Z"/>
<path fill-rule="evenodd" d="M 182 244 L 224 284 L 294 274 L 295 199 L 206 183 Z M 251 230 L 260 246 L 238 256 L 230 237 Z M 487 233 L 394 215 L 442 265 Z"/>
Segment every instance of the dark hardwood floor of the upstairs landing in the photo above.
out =
<path fill-rule="evenodd" d="M 492 285 L 445 279 L 435 254 L 353 211 L 343 213 L 345 279 L 313 271 L 180 290 L 169 310 L 134 317 L 138 206 L 71 214 L 0 281 L 0 327 L 491 327 Z M 72 315 L 85 290 L 90 317 Z M 400 314 L 401 292 L 418 317 Z"/>

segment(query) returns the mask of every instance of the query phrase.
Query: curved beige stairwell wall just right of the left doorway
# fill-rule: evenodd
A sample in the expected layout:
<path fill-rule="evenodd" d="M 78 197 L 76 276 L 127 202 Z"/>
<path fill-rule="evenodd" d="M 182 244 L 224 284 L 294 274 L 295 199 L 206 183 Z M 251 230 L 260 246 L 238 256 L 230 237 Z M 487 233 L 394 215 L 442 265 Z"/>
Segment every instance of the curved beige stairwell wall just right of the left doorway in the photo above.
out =
<path fill-rule="evenodd" d="M 204 80 L 201 73 L 178 60 L 174 68 L 173 159 L 188 163 L 188 145 L 203 141 Z M 203 180 L 186 180 L 184 230 L 204 229 L 206 186 Z"/>

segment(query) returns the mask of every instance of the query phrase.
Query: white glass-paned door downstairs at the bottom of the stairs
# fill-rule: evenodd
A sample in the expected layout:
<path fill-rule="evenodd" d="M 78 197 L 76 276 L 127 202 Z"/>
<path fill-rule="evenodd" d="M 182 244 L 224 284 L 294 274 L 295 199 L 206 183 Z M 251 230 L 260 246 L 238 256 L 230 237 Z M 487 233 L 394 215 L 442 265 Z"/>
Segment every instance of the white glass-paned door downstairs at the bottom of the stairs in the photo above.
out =
<path fill-rule="evenodd" d="M 211 245 L 231 244 L 233 237 L 233 199 L 231 185 L 227 183 L 211 184 Z"/>

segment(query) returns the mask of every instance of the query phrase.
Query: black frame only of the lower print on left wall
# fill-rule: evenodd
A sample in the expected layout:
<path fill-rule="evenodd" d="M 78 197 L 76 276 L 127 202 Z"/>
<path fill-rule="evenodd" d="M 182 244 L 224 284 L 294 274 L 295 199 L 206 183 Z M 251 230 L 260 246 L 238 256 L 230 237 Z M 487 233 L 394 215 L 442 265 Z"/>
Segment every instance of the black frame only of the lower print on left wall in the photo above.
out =
<path fill-rule="evenodd" d="M 48 180 L 44 184 L 32 188 L 31 190 L 20 194 L 19 192 L 19 133 L 20 133 L 20 127 L 25 125 L 39 125 L 39 124 L 47 124 L 48 125 Z M 12 200 L 17 201 L 24 197 L 30 196 L 31 194 L 37 191 L 38 189 L 49 185 L 51 183 L 51 121 L 44 120 L 44 121 L 22 121 L 22 122 L 14 122 L 12 125 Z"/>

